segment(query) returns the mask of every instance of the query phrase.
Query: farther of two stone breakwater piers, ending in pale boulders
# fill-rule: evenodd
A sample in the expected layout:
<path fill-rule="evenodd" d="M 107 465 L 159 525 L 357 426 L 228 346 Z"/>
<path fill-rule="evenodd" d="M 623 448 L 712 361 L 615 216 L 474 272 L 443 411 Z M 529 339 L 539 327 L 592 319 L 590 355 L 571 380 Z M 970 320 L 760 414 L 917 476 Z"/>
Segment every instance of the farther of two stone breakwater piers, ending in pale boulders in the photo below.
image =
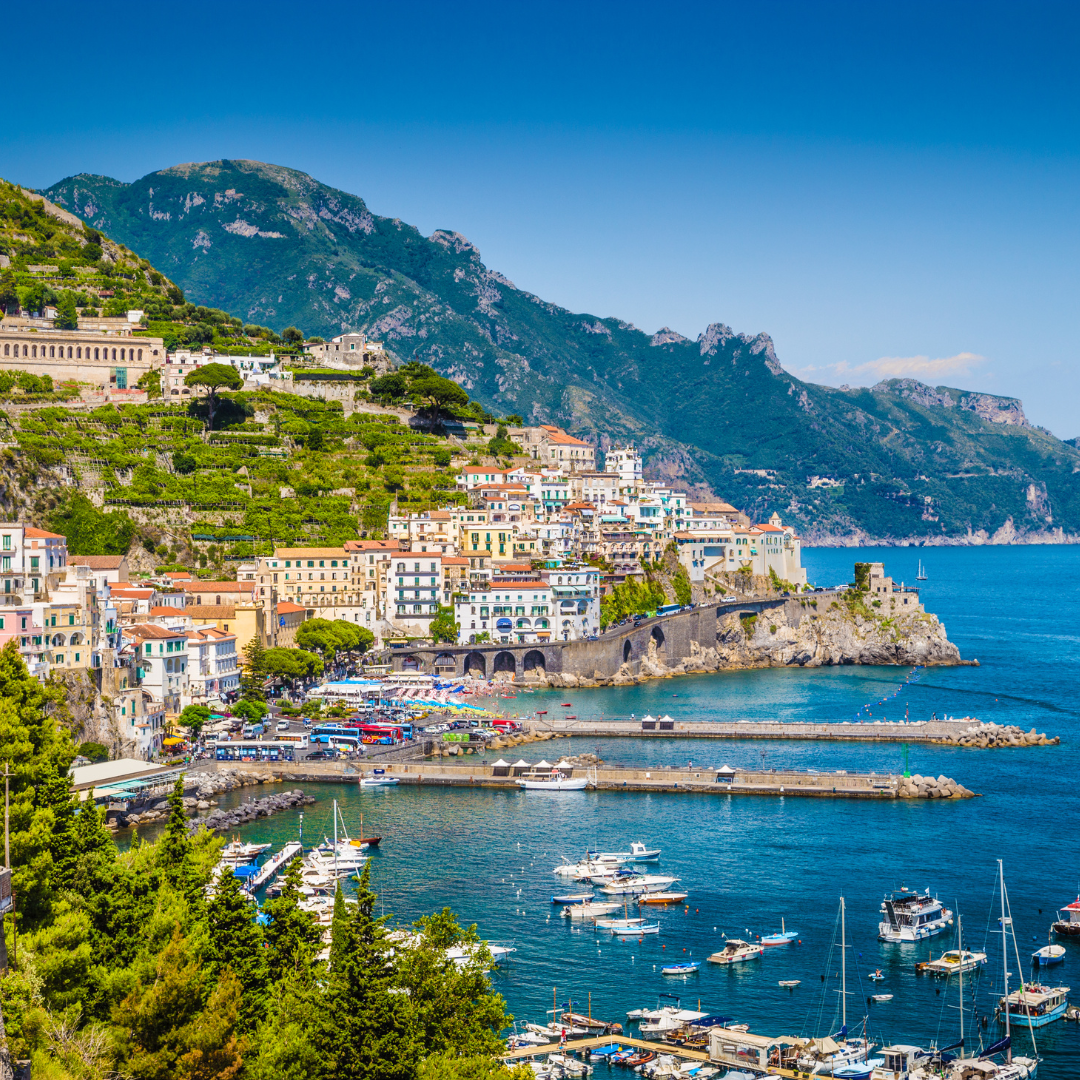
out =
<path fill-rule="evenodd" d="M 995 750 L 1009 746 L 1049 746 L 1059 740 L 1039 734 L 1034 728 L 980 724 L 977 720 L 673 720 L 645 719 L 596 720 L 545 716 L 530 718 L 526 727 L 532 733 L 584 735 L 591 739 L 812 739 L 842 742 L 948 743 Z"/>

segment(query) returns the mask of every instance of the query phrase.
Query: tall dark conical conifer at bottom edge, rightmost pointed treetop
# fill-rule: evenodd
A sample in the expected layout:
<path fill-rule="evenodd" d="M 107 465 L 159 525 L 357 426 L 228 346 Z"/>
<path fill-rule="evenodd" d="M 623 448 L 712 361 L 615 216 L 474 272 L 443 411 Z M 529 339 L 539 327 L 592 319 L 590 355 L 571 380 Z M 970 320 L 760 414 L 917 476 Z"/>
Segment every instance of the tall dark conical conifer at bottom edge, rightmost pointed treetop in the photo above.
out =
<path fill-rule="evenodd" d="M 390 993 L 393 967 L 375 901 L 368 863 L 349 919 L 343 962 L 330 973 L 326 1074 L 335 1080 L 411 1080 L 416 1075 L 420 1047 L 404 995 Z"/>

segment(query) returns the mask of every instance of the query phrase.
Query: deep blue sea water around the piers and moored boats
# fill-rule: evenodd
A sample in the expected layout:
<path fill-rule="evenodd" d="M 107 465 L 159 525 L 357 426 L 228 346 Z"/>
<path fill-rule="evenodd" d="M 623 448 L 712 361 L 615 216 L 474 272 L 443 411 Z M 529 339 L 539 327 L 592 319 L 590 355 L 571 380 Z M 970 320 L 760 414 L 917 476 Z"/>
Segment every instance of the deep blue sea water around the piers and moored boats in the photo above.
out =
<path fill-rule="evenodd" d="M 243 839 L 306 843 L 332 829 L 338 801 L 353 835 L 379 835 L 372 858 L 379 910 L 392 923 L 451 908 L 491 942 L 515 951 L 492 974 L 515 1021 L 551 1010 L 589 1012 L 626 1025 L 626 1012 L 659 1003 L 731 1017 L 752 1031 L 825 1036 L 841 1026 L 841 897 L 847 934 L 847 1024 L 879 1044 L 949 1045 L 959 1039 L 959 987 L 918 975 L 919 960 L 955 947 L 955 929 L 917 945 L 878 942 L 883 896 L 930 890 L 962 918 L 964 945 L 987 964 L 964 980 L 969 1048 L 1003 1031 L 994 1018 L 1008 967 L 1010 987 L 1030 980 L 1031 953 L 1047 944 L 1056 909 L 1080 896 L 1080 546 L 810 549 L 812 583 L 852 580 L 855 561 L 880 561 L 895 580 L 918 582 L 929 611 L 978 666 L 846 666 L 688 676 L 619 689 L 518 692 L 508 713 L 569 712 L 581 718 L 670 715 L 696 719 L 910 719 L 977 717 L 1058 735 L 1061 745 L 956 750 L 897 743 L 746 740 L 561 740 L 524 746 L 539 759 L 592 751 L 623 765 L 802 768 L 822 772 L 945 774 L 978 793 L 963 801 L 488 789 L 353 785 L 312 788 L 318 802 L 240 829 Z M 259 789 L 264 794 L 265 789 Z M 253 797 L 251 788 L 232 793 Z M 361 819 L 363 821 L 361 822 Z M 659 872 L 676 875 L 685 904 L 647 914 L 660 933 L 620 941 L 572 926 L 552 903 L 565 891 L 552 870 L 586 848 L 661 849 Z M 1002 957 L 999 861 L 1015 926 Z M 798 933 L 758 960 L 703 963 L 690 978 L 665 962 L 705 960 L 727 937 Z M 1077 983 L 1080 941 L 1064 943 L 1051 985 Z M 880 971 L 882 978 L 869 975 Z M 794 988 L 782 981 L 798 980 Z M 891 994 L 875 1002 L 875 994 Z M 1014 1028 L 1014 1048 L 1030 1052 Z M 1035 1034 L 1040 1080 L 1080 1076 L 1080 1024 Z"/>

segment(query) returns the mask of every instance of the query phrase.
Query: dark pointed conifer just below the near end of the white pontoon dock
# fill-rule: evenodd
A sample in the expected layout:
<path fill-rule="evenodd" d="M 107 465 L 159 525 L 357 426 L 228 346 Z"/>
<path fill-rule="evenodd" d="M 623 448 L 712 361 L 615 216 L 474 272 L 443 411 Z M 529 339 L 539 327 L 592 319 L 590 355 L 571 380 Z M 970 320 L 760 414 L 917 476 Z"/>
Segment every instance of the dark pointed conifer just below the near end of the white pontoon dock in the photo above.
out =
<path fill-rule="evenodd" d="M 239 1028 L 251 1031 L 262 1013 L 267 991 L 267 960 L 262 928 L 255 921 L 252 902 L 240 888 L 240 879 L 227 866 L 207 907 L 210 948 L 207 959 L 216 977 L 231 972 L 243 990 Z"/>

